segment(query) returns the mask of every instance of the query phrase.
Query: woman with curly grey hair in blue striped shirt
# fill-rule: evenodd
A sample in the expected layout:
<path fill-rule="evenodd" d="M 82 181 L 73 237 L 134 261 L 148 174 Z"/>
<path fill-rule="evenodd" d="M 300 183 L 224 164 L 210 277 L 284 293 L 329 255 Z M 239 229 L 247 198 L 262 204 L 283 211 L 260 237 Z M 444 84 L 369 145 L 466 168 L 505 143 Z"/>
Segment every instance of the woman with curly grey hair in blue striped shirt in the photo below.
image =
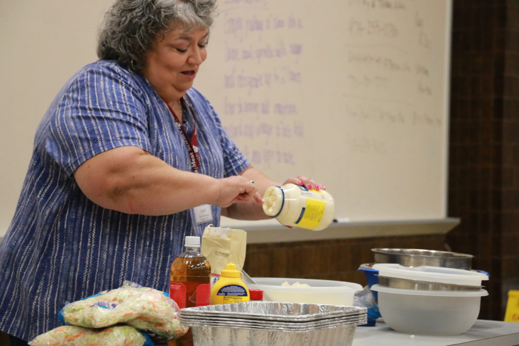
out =
<path fill-rule="evenodd" d="M 0 330 L 22 340 L 124 280 L 167 290 L 184 237 L 220 215 L 266 218 L 279 185 L 253 168 L 192 88 L 215 0 L 118 0 L 99 61 L 56 96 L 0 247 Z M 285 183 L 321 188 L 306 177 Z"/>

